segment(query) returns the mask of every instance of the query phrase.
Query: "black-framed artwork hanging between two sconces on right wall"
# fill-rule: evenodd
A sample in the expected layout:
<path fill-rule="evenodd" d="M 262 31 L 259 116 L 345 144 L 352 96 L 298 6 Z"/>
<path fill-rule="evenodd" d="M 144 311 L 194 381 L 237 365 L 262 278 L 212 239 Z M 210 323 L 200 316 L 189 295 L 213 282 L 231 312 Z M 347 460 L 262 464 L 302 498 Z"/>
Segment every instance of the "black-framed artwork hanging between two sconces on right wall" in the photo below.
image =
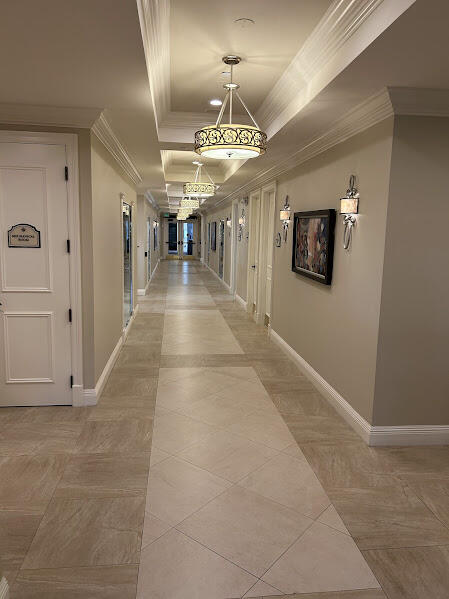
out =
<path fill-rule="evenodd" d="M 330 285 L 334 257 L 335 210 L 295 212 L 292 270 Z"/>

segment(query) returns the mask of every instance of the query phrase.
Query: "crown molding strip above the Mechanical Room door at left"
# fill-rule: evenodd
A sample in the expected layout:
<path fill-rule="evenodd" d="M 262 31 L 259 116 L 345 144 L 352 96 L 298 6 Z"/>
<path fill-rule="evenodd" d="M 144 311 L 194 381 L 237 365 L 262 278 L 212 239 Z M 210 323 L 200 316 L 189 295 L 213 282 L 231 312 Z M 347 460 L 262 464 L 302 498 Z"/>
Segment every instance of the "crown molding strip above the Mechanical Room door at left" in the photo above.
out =
<path fill-rule="evenodd" d="M 101 114 L 100 108 L 0 104 L 0 123 L 90 129 Z"/>

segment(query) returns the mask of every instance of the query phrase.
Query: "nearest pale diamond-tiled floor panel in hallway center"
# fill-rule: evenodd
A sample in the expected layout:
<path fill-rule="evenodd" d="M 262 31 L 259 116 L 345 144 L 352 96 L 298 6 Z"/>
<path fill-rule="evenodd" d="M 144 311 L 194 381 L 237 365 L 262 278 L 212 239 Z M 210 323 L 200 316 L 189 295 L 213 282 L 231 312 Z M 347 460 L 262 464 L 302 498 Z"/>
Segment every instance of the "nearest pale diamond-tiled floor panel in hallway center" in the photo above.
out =
<path fill-rule="evenodd" d="M 377 587 L 256 372 L 161 369 L 138 598 Z"/>

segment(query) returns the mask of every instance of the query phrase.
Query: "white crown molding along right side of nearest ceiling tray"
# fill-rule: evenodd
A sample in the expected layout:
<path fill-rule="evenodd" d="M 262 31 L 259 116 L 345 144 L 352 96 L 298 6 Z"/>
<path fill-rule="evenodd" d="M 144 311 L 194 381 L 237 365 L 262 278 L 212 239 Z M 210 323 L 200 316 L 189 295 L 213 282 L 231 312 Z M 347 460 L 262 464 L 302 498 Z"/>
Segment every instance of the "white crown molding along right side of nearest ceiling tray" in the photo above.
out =
<path fill-rule="evenodd" d="M 257 111 L 268 138 L 416 0 L 334 0 Z"/>

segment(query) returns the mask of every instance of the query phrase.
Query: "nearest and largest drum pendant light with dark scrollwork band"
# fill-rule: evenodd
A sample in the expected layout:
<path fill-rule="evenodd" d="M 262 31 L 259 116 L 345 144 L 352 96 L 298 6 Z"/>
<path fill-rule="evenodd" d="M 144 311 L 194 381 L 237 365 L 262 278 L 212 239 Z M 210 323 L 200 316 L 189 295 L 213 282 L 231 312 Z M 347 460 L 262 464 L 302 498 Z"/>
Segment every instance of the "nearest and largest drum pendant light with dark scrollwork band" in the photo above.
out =
<path fill-rule="evenodd" d="M 246 160 L 265 154 L 267 149 L 267 134 L 260 130 L 245 102 L 240 97 L 238 83 L 232 79 L 234 65 L 239 64 L 239 56 L 223 57 L 223 62 L 231 67 L 231 80 L 225 83 L 226 95 L 221 106 L 215 125 L 203 127 L 195 133 L 195 152 L 206 158 L 217 160 Z M 240 100 L 243 108 L 250 116 L 254 126 L 238 125 L 232 122 L 234 95 Z M 229 102 L 229 122 L 222 123 L 226 105 Z"/>

